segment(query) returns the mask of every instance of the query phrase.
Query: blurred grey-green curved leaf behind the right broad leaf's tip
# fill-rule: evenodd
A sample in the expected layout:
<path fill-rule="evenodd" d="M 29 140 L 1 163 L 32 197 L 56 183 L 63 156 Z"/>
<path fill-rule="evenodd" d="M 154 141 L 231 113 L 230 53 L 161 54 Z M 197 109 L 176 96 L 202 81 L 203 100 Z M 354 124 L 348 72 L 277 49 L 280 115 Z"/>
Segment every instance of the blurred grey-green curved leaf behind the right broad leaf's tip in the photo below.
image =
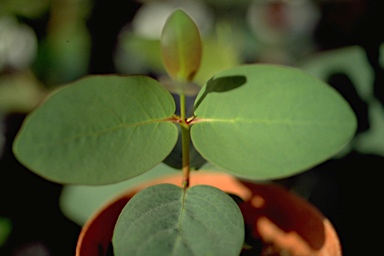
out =
<path fill-rule="evenodd" d="M 384 53 L 384 44 L 381 45 L 380 52 Z M 380 62 L 384 63 L 384 54 L 380 56 Z M 313 54 L 298 66 L 323 81 L 331 82 L 334 75 L 342 75 L 350 80 L 349 85 L 356 90 L 356 97 L 352 98 L 351 93 L 341 93 L 357 113 L 360 126 L 350 149 L 384 156 L 384 108 L 373 97 L 375 75 L 366 63 L 364 49 L 355 45 Z M 348 90 L 341 89 L 344 92 Z M 363 109 L 361 102 L 366 104 L 367 109 Z"/>

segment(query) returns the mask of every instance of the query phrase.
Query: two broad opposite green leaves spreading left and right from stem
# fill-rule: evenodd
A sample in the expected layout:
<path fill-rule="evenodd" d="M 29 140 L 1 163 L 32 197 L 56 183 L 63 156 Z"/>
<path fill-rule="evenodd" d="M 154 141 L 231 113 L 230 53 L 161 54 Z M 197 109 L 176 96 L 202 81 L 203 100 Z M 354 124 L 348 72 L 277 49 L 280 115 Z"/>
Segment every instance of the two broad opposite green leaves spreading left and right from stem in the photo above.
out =
<path fill-rule="evenodd" d="M 14 143 L 21 163 L 60 183 L 107 184 L 137 176 L 175 146 L 175 103 L 145 76 L 90 76 L 54 93 Z M 286 177 L 344 146 L 356 120 L 331 87 L 300 70 L 249 65 L 200 91 L 191 139 L 209 162 L 252 179 Z"/>

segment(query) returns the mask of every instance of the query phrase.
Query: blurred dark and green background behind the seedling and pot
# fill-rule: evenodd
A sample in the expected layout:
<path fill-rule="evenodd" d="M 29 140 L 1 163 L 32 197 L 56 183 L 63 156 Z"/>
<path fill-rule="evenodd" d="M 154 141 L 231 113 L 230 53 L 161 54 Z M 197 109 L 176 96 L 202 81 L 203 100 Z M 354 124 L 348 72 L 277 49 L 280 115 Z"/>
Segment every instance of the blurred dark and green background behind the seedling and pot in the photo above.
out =
<path fill-rule="evenodd" d="M 160 165 L 127 183 L 62 186 L 26 170 L 11 151 L 25 115 L 87 74 L 146 74 L 169 87 L 159 37 L 174 8 L 202 33 L 192 88 L 234 65 L 275 63 L 306 70 L 350 102 L 359 123 L 353 141 L 313 170 L 276 182 L 332 221 L 345 255 L 377 255 L 384 216 L 381 0 L 0 0 L 0 255 L 74 255 L 81 225 L 105 200 L 152 174 L 174 172 Z"/>

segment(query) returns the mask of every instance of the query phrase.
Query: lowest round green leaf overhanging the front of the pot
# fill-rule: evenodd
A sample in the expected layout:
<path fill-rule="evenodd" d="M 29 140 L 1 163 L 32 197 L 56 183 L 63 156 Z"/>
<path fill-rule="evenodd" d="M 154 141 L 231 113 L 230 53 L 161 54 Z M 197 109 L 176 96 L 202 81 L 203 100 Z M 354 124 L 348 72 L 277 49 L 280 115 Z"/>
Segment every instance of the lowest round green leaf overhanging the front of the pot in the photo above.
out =
<path fill-rule="evenodd" d="M 239 255 L 244 221 L 236 203 L 211 186 L 149 187 L 125 206 L 112 243 L 119 255 Z"/>

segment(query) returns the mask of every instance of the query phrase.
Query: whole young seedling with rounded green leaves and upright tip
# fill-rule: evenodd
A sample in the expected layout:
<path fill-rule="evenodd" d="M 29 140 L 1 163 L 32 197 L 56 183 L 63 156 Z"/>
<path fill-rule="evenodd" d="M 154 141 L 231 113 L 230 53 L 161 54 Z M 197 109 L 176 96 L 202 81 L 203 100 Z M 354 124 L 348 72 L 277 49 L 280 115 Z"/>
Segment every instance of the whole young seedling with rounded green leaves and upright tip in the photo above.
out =
<path fill-rule="evenodd" d="M 307 170 L 353 137 L 356 119 L 334 89 L 303 71 L 242 65 L 214 75 L 193 114 L 185 89 L 199 71 L 202 43 L 182 10 L 168 18 L 161 53 L 177 84 L 171 93 L 142 75 L 91 75 L 52 93 L 24 121 L 18 160 L 63 184 L 120 182 L 151 170 L 182 142 L 180 187 L 160 184 L 125 206 L 113 235 L 115 255 L 238 255 L 244 222 L 235 201 L 211 186 L 189 186 L 191 144 L 237 177 L 270 180 Z"/>

